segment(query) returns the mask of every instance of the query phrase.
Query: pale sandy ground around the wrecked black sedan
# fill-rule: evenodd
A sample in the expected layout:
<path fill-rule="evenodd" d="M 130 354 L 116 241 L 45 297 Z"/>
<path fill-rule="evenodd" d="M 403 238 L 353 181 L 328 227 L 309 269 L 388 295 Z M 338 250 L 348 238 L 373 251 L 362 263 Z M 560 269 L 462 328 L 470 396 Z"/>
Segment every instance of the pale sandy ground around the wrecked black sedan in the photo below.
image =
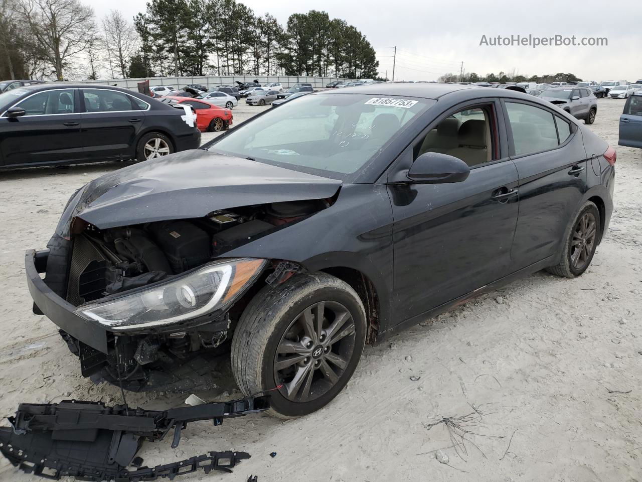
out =
<path fill-rule="evenodd" d="M 591 129 L 616 146 L 623 101 L 598 105 Z M 239 105 L 235 125 L 259 109 Z M 23 256 L 46 245 L 74 189 L 121 166 L 0 174 L 0 415 L 19 402 L 120 401 L 116 388 L 83 379 L 55 325 L 31 313 Z M 181 479 L 642 481 L 642 150 L 618 148 L 617 172 L 611 229 L 584 276 L 516 281 L 367 347 L 347 388 L 313 415 L 191 424 L 176 451 L 168 440 L 145 445 L 146 465 L 233 449 L 252 454 L 234 474 Z M 198 395 L 239 396 L 221 391 Z M 163 409 L 183 398 L 130 394 L 128 402 Z M 473 407 L 487 412 L 464 445 L 451 447 L 445 424 L 430 425 Z M 0 480 L 36 479 L 0 460 Z"/>

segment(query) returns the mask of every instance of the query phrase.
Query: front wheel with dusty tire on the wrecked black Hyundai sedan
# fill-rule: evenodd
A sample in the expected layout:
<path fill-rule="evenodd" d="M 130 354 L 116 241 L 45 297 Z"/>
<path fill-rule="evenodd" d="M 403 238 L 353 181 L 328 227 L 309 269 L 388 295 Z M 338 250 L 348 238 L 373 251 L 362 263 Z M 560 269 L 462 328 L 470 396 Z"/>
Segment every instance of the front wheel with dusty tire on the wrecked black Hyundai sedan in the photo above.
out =
<path fill-rule="evenodd" d="M 299 274 L 266 286 L 245 308 L 232 339 L 234 379 L 247 396 L 271 390 L 272 416 L 308 415 L 352 377 L 366 332 L 363 303 L 347 283 L 322 272 Z"/>

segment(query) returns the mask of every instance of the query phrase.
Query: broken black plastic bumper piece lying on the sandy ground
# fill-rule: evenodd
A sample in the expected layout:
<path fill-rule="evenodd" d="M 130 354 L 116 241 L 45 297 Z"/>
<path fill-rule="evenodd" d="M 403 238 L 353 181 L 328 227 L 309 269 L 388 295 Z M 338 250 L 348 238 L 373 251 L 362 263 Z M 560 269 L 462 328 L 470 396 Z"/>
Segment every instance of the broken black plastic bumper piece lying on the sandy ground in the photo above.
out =
<path fill-rule="evenodd" d="M 180 431 L 189 422 L 234 418 L 268 409 L 267 397 L 179 407 L 166 411 L 108 407 L 100 402 L 64 400 L 59 404 L 21 404 L 0 427 L 0 452 L 28 474 L 58 480 L 74 476 L 88 481 L 146 481 L 175 478 L 204 470 L 231 472 L 245 452 L 208 452 L 187 460 L 140 467 L 136 453 L 144 440 L 156 442 L 173 428 L 172 447 L 180 442 Z M 126 467 L 134 465 L 134 470 Z"/>

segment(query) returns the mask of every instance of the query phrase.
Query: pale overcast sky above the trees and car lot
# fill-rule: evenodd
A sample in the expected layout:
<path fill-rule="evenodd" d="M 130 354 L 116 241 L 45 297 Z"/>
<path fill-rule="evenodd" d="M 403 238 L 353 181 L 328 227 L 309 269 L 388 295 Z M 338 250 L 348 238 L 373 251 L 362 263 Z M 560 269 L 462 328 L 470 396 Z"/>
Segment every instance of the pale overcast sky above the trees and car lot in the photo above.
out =
<path fill-rule="evenodd" d="M 100 19 L 108 10 L 132 18 L 144 12 L 144 0 L 81 0 Z M 325 10 L 344 19 L 368 37 L 377 51 L 381 75 L 392 78 L 393 47 L 397 46 L 395 80 L 436 80 L 447 72 L 479 75 L 513 69 L 523 75 L 574 73 L 584 80 L 642 78 L 639 8 L 603 0 L 564 2 L 419 2 L 416 0 L 243 1 L 257 15 L 266 12 L 285 24 L 291 13 Z M 296 10 L 293 10 L 296 8 Z M 611 10 L 617 10 L 612 13 Z M 480 46 L 490 37 L 606 37 L 607 46 Z"/>

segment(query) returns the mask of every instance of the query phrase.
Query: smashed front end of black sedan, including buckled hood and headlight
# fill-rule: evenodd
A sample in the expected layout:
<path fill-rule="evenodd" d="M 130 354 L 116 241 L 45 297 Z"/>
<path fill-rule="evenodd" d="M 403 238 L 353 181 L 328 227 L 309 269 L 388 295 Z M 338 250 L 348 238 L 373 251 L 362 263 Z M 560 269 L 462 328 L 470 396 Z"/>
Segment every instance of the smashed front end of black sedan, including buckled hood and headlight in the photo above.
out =
<path fill-rule="evenodd" d="M 34 312 L 94 381 L 208 388 L 248 300 L 304 271 L 226 253 L 328 208 L 339 187 L 202 150 L 105 175 L 74 193 L 47 250 L 27 251 Z"/>

